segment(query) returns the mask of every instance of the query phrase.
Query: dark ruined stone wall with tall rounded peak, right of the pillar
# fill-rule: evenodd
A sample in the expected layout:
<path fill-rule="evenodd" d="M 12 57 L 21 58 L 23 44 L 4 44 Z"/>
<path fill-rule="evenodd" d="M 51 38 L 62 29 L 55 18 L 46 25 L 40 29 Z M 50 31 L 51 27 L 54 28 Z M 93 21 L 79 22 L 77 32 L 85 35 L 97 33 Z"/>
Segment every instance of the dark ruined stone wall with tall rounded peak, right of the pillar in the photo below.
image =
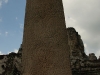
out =
<path fill-rule="evenodd" d="M 100 75 L 100 58 L 85 54 L 81 36 L 74 28 L 67 28 L 67 34 L 73 75 Z"/>

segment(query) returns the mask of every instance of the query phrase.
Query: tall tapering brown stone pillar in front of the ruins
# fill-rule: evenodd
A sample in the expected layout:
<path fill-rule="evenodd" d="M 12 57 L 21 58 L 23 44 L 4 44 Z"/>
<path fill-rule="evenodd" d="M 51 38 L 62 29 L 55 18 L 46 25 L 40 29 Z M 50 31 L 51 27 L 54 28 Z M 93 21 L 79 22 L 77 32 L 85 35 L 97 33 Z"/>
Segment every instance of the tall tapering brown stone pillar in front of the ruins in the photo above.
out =
<path fill-rule="evenodd" d="M 26 0 L 22 75 L 71 75 L 62 0 Z"/>

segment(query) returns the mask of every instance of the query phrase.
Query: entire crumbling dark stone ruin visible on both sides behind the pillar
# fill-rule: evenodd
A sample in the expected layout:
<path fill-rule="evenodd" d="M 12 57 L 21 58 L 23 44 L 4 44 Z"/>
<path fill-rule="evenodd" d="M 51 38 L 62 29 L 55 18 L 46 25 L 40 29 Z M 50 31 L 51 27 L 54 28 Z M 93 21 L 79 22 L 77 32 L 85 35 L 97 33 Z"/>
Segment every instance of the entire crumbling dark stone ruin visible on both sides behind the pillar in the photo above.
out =
<path fill-rule="evenodd" d="M 67 28 L 72 75 L 100 75 L 100 57 L 86 55 L 81 36 L 72 27 Z M 0 55 L 0 75 L 21 75 L 22 47 L 18 53 Z"/>

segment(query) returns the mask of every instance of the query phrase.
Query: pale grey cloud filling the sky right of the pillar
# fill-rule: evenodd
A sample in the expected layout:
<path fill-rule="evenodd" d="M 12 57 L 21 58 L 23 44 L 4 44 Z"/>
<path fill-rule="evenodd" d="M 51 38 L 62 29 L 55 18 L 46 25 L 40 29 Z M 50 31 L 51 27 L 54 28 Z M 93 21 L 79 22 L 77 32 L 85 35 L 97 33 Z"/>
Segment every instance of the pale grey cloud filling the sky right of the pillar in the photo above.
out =
<path fill-rule="evenodd" d="M 66 27 L 74 27 L 87 44 L 86 49 L 97 54 L 100 50 L 100 0 L 63 0 L 63 4 Z"/>

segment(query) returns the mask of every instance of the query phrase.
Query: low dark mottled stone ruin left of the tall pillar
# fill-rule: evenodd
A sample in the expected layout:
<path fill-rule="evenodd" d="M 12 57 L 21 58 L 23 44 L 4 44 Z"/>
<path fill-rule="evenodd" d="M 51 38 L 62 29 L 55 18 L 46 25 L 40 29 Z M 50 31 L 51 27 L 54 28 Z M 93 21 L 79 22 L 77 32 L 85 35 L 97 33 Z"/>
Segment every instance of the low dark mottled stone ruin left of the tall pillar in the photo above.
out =
<path fill-rule="evenodd" d="M 21 48 L 19 51 L 22 51 Z M 11 52 L 8 55 L 0 55 L 0 75 L 21 75 L 22 53 Z"/>

